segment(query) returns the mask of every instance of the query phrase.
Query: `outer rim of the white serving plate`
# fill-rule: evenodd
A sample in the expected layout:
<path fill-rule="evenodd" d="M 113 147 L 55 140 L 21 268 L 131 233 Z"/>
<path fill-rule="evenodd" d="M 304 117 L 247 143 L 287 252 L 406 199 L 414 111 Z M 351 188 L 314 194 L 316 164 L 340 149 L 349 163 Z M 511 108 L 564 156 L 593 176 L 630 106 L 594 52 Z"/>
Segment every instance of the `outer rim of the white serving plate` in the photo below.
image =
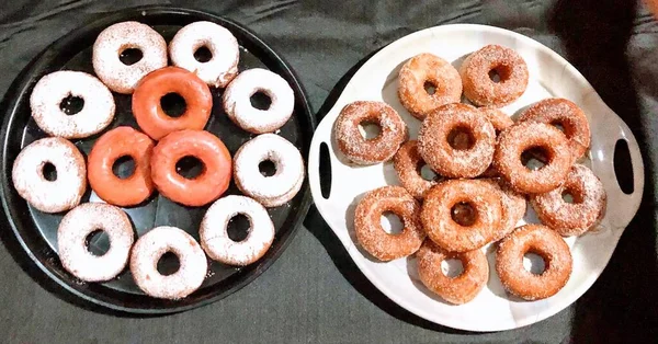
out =
<path fill-rule="evenodd" d="M 628 196 L 632 196 L 632 198 L 634 198 L 637 202 L 636 202 L 636 204 L 631 206 L 631 208 L 634 209 L 632 211 L 633 215 L 629 216 L 628 219 L 625 221 L 625 225 L 619 231 L 619 236 L 615 234 L 614 246 L 616 246 L 616 244 L 619 244 L 619 239 L 621 238 L 621 234 L 627 227 L 627 223 L 637 214 L 637 210 L 639 208 L 639 205 L 640 205 L 643 196 L 644 196 L 644 184 L 645 184 L 644 160 L 637 148 L 637 140 L 635 139 L 633 131 L 628 128 L 626 123 L 616 113 L 614 113 L 612 110 L 610 110 L 608 107 L 608 105 L 603 102 L 603 100 L 595 92 L 593 87 L 591 87 L 589 81 L 564 57 L 561 57 L 559 54 L 557 54 L 553 49 L 548 48 L 547 46 L 543 45 L 542 43 L 537 42 L 536 39 L 534 39 L 532 37 L 525 36 L 521 33 L 518 33 L 518 32 L 514 32 L 511 30 L 507 30 L 507 28 L 502 28 L 502 27 L 498 27 L 498 26 L 491 26 L 491 25 L 445 24 L 445 25 L 430 26 L 430 27 L 427 27 L 423 30 L 412 32 L 408 35 L 405 35 L 405 36 L 389 43 L 387 46 L 385 46 L 384 48 L 379 49 L 376 54 L 371 56 L 368 58 L 368 60 L 365 61 L 359 68 L 359 70 L 356 70 L 356 72 L 350 78 L 350 81 L 347 82 L 344 89 L 342 90 L 342 92 L 338 96 L 338 99 L 336 100 L 332 107 L 327 112 L 327 115 L 318 124 L 318 128 L 316 129 L 316 135 L 314 135 L 314 139 L 310 145 L 310 152 L 309 152 L 309 168 L 308 168 L 309 172 L 308 173 L 309 173 L 309 180 L 310 180 L 311 194 L 314 197 L 314 203 L 317 206 L 318 213 L 322 216 L 322 219 L 328 225 L 328 227 L 331 229 L 331 231 L 341 241 L 344 249 L 348 251 L 350 259 L 355 263 L 355 265 L 359 267 L 361 273 L 364 274 L 366 276 L 366 278 L 371 283 L 373 283 L 373 285 L 375 285 L 375 287 L 377 287 L 377 289 L 379 289 L 384 295 L 386 295 L 387 298 L 389 298 L 392 301 L 394 301 L 398 306 L 400 306 L 400 307 L 405 308 L 406 310 L 410 311 L 411 313 L 419 316 L 423 319 L 427 319 L 431 322 L 434 322 L 434 323 L 438 323 L 441 325 L 446 325 L 446 326 L 450 326 L 453 329 L 460 329 L 460 330 L 466 330 L 466 331 L 473 331 L 473 332 L 490 332 L 490 331 L 506 331 L 506 330 L 519 329 L 519 328 L 527 326 L 530 324 L 537 323 L 542 320 L 545 320 L 545 319 L 554 316 L 555 313 L 564 310 L 565 308 L 569 307 L 577 299 L 579 299 L 593 285 L 593 283 L 595 280 L 598 280 L 600 274 L 598 274 L 598 276 L 595 278 L 593 278 L 593 280 L 591 280 L 591 283 L 589 283 L 587 285 L 587 287 L 582 290 L 582 293 L 575 293 L 575 294 L 578 294 L 577 297 L 568 298 L 569 301 L 566 302 L 566 306 L 556 307 L 557 308 L 556 311 L 548 312 L 548 313 L 546 313 L 546 312 L 542 313 L 543 317 L 535 317 L 535 319 L 533 319 L 531 321 L 524 321 L 521 323 L 517 322 L 514 325 L 509 325 L 509 326 L 489 326 L 489 328 L 477 326 L 477 325 L 465 325 L 465 323 L 463 323 L 463 322 L 458 322 L 458 321 L 455 322 L 455 321 L 450 321 L 450 320 L 445 321 L 445 319 L 443 319 L 443 321 L 438 321 L 435 317 L 431 317 L 431 314 L 428 314 L 424 310 L 420 310 L 420 309 L 417 309 L 416 307 L 413 307 L 412 305 L 410 306 L 409 303 L 401 302 L 402 296 L 399 293 L 394 293 L 393 290 L 390 290 L 388 288 L 388 285 L 381 283 L 381 278 L 378 278 L 376 276 L 376 274 L 373 271 L 371 271 L 368 267 L 365 267 L 363 265 L 364 262 L 362 262 L 361 259 L 355 257 L 355 255 L 362 256 L 362 253 L 356 249 L 356 243 L 352 242 L 351 238 L 343 238 L 343 233 L 342 233 L 343 225 L 336 225 L 338 227 L 341 227 L 341 231 L 339 233 L 339 231 L 333 228 L 334 223 L 337 221 L 331 218 L 327 218 L 325 216 L 325 211 L 326 211 L 327 207 L 330 207 L 329 200 L 331 200 L 330 199 L 331 196 L 329 197 L 329 199 L 325 199 L 321 195 L 320 177 L 319 177 L 319 173 L 318 173 L 319 146 L 320 146 L 320 144 L 326 144 L 327 146 L 329 146 L 329 150 L 331 151 L 331 147 L 332 147 L 332 142 L 331 142 L 332 139 L 331 139 L 331 135 L 330 135 L 331 127 L 333 126 L 333 122 L 336 121 L 336 117 L 338 116 L 338 113 L 340 111 L 340 108 L 338 108 L 338 106 L 344 105 L 347 103 L 344 101 L 344 98 L 345 98 L 345 94 L 349 93 L 349 91 L 351 91 L 352 81 L 356 77 L 360 76 L 361 71 L 364 71 L 365 69 L 368 69 L 372 71 L 372 68 L 368 68 L 370 65 L 375 64 L 374 62 L 375 60 L 381 59 L 382 56 L 387 54 L 387 50 L 390 49 L 394 45 L 398 45 L 398 44 L 401 45 L 401 41 L 412 41 L 413 38 L 411 36 L 421 35 L 421 33 L 424 33 L 424 32 L 427 32 L 428 36 L 434 36 L 436 30 L 457 30 L 458 31 L 460 28 L 461 30 L 488 31 L 488 32 L 496 32 L 496 33 L 504 34 L 508 36 L 514 36 L 519 41 L 523 41 L 524 44 L 532 45 L 533 48 L 538 49 L 542 53 L 548 54 L 552 58 L 555 58 L 557 61 L 561 62 L 565 66 L 565 69 L 569 69 L 569 71 L 576 76 L 576 78 L 578 79 L 578 81 L 580 83 L 590 88 L 593 91 L 592 92 L 593 96 L 598 98 L 598 102 L 600 104 L 604 105 L 605 108 L 608 108 L 608 112 L 610 112 L 611 114 L 614 114 L 613 122 L 615 124 L 617 124 L 620 126 L 620 128 L 623 129 L 622 134 L 628 134 L 631 136 L 631 137 L 623 136 L 621 138 L 625 139 L 628 142 L 628 150 L 629 150 L 632 163 L 633 163 L 632 169 L 633 169 L 633 173 L 634 173 L 634 181 L 633 181 L 634 182 L 634 192 Z M 361 77 L 363 77 L 363 76 L 361 76 Z M 387 82 L 389 82 L 389 80 L 387 80 Z M 327 133 L 329 133 L 329 134 L 327 134 Z M 635 147 L 633 147 L 633 144 L 635 144 Z M 340 163 L 338 161 L 338 158 L 331 152 L 329 153 L 329 158 L 331 160 L 331 167 L 332 167 L 331 169 L 333 169 L 333 165 L 336 163 Z M 636 163 L 637 163 L 637 165 L 636 165 Z M 336 176 L 332 175 L 332 181 L 334 180 L 334 177 Z M 342 220 L 339 222 L 342 222 Z M 613 251 L 614 251 L 614 249 L 611 251 L 610 255 L 606 257 L 604 266 L 606 266 L 609 264 Z M 561 302 L 560 302 L 560 305 L 561 305 Z"/>

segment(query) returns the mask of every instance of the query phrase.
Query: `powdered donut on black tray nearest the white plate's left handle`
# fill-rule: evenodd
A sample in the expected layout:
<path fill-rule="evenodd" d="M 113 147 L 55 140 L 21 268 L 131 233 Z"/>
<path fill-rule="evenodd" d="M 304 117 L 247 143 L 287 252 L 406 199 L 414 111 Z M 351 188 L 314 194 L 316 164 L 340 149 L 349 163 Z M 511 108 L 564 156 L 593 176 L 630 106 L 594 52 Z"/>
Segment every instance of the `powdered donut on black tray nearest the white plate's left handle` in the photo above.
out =
<path fill-rule="evenodd" d="M 259 170 L 274 163 L 274 175 Z M 242 194 L 271 208 L 293 199 L 304 183 L 304 159 L 297 147 L 275 134 L 262 134 L 242 145 L 235 156 L 234 179 Z"/>

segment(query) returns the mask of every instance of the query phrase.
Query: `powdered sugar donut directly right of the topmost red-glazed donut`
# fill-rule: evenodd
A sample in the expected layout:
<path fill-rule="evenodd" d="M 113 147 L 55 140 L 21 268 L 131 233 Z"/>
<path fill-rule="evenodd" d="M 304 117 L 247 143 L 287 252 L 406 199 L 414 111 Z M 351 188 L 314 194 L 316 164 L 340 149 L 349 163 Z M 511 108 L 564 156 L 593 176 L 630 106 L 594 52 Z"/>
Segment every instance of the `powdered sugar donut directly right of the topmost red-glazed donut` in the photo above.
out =
<path fill-rule="evenodd" d="M 270 98 L 268 110 L 251 105 L 250 98 L 263 92 Z M 224 111 L 240 128 L 253 133 L 272 133 L 281 128 L 295 108 L 295 93 L 285 79 L 266 69 L 254 68 L 241 72 L 224 92 Z"/>

